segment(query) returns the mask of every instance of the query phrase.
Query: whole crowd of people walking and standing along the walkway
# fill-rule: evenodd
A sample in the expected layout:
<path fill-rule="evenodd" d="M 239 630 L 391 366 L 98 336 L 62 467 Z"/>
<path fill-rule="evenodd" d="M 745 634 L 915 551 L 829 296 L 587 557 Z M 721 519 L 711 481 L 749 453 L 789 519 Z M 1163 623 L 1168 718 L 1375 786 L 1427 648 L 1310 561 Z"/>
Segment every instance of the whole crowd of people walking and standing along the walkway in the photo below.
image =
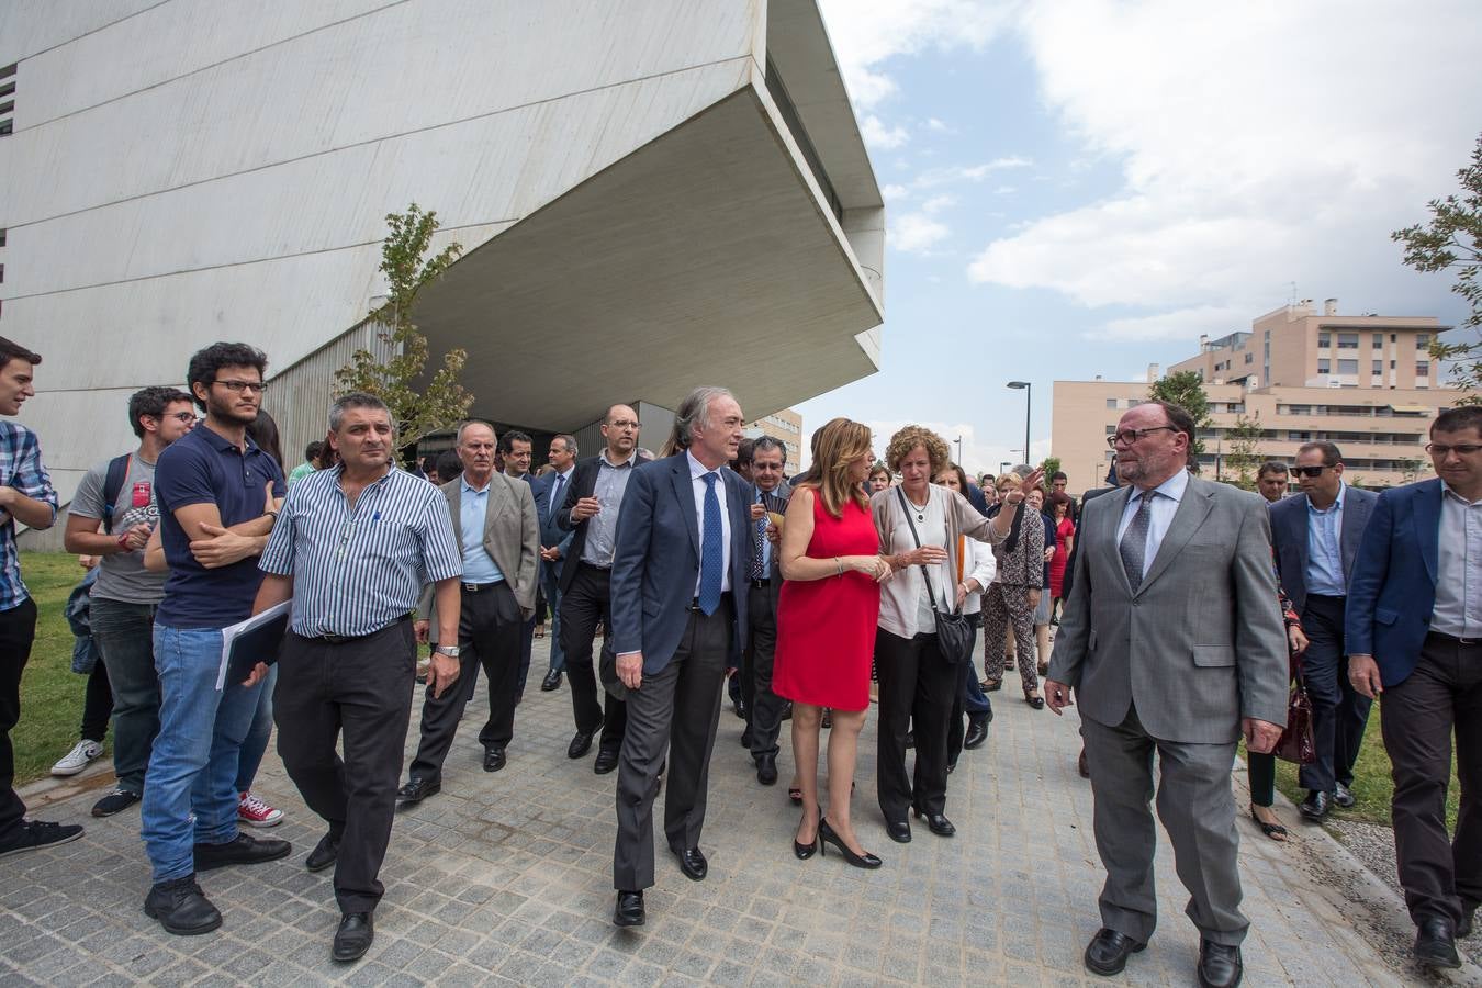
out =
<path fill-rule="evenodd" d="M 19 413 L 40 363 L 0 339 L 0 415 Z M 873 869 L 885 862 L 852 812 L 870 707 L 885 835 L 913 840 L 914 818 L 950 838 L 950 775 L 987 739 L 988 693 L 1017 668 L 1033 710 L 1080 708 L 1080 772 L 1107 871 L 1089 970 L 1120 972 L 1153 935 L 1156 792 L 1200 936 L 1199 984 L 1240 982 L 1248 921 L 1230 767 L 1243 739 L 1251 816 L 1283 840 L 1275 752 L 1286 751 L 1294 681 L 1313 711 L 1298 807 L 1310 821 L 1352 804 L 1369 707 L 1386 693 L 1415 952 L 1460 963 L 1455 938 L 1482 901 L 1482 407 L 1433 422 L 1435 480 L 1374 495 L 1344 481 L 1337 446 L 1306 443 L 1292 465 L 1261 468 L 1267 508 L 1194 475 L 1193 419 L 1150 401 L 1107 437 L 1117 486 L 1077 504 L 1063 474 L 1046 487 L 1027 467 L 974 483 L 917 425 L 877 461 L 868 427 L 843 418 L 814 433 L 809 468 L 784 478 L 785 446 L 747 440 L 735 395 L 714 387 L 680 403 L 658 456 L 637 449 L 637 413 L 619 403 L 603 416 L 603 449 L 579 458 L 576 440 L 557 435 L 542 471 L 529 435 L 476 419 L 449 453 L 402 468 L 387 406 L 347 394 L 326 438 L 286 474 L 261 410 L 265 370 L 253 347 L 213 344 L 191 357 L 185 391 L 135 394 L 138 447 L 87 473 L 67 520 L 68 550 L 96 560 L 77 595 L 96 656 L 82 739 L 56 770 L 98 757 L 111 710 L 117 784 L 92 812 L 141 804 L 144 911 L 170 933 L 222 923 L 200 872 L 292 852 L 242 828 L 283 816 L 252 794 L 276 724 L 288 775 L 325 822 L 305 867 L 335 869 L 332 957 L 362 957 L 394 815 L 440 792 L 480 668 L 483 769 L 505 767 L 545 609 L 541 689 L 569 689 L 566 755 L 596 748 L 594 773 L 617 773 L 618 926 L 646 921 L 661 788 L 679 871 L 707 875 L 728 678 L 763 787 L 778 781 L 790 721 L 796 858 L 831 849 Z M 36 627 L 15 529 L 50 526 L 58 498 L 36 433 L 9 418 L 0 478 L 3 856 L 76 840 L 82 827 L 25 819 L 12 785 L 9 732 Z M 288 601 L 276 655 L 224 681 L 224 630 Z M 419 643 L 430 647 L 421 674 Z"/>

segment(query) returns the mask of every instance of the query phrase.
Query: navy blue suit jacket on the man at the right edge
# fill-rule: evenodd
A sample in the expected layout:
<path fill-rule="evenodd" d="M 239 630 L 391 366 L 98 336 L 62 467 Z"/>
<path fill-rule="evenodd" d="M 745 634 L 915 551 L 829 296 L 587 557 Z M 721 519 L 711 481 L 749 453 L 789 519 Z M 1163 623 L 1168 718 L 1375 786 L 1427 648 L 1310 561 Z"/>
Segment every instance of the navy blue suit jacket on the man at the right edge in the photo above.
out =
<path fill-rule="evenodd" d="M 1441 554 L 1441 480 L 1383 492 L 1349 578 L 1344 644 L 1372 655 L 1384 686 L 1415 671 L 1436 609 Z"/>

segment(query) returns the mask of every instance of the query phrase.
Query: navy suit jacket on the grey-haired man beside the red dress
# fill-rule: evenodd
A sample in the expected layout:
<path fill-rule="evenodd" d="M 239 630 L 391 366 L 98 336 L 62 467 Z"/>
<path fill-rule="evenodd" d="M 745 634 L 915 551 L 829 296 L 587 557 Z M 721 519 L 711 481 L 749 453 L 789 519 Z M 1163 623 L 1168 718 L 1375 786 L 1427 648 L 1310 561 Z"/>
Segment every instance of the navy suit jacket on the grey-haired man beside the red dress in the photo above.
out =
<path fill-rule="evenodd" d="M 731 594 L 735 613 L 747 613 L 751 579 L 751 484 L 720 468 L 731 515 Z M 700 521 L 689 458 L 680 452 L 643 464 L 628 478 L 618 513 L 612 558 L 614 650 L 643 652 L 643 672 L 668 665 L 689 622 L 700 578 Z M 745 647 L 745 621 L 737 621 Z"/>

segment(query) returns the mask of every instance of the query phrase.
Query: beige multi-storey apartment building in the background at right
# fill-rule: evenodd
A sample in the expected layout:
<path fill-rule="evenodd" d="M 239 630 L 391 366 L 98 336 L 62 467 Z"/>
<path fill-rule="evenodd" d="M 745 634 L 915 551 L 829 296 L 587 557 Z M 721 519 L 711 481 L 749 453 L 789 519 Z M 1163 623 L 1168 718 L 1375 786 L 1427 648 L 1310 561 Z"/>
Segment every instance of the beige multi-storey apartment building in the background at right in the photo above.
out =
<path fill-rule="evenodd" d="M 1200 433 L 1202 474 L 1227 475 L 1227 433 L 1243 416 L 1261 425 L 1261 459 L 1291 462 L 1303 443 L 1329 440 L 1352 483 L 1414 480 L 1429 470 L 1430 419 L 1454 398 L 1427 351 L 1446 329 L 1432 317 L 1341 316 L 1326 299 L 1320 316 L 1300 302 L 1261 316 L 1249 332 L 1202 338 L 1196 356 L 1169 367 L 1205 381 L 1214 427 Z M 1051 449 L 1073 492 L 1104 483 L 1113 459 L 1106 437 L 1157 376 L 1153 364 L 1147 381 L 1055 381 Z"/>

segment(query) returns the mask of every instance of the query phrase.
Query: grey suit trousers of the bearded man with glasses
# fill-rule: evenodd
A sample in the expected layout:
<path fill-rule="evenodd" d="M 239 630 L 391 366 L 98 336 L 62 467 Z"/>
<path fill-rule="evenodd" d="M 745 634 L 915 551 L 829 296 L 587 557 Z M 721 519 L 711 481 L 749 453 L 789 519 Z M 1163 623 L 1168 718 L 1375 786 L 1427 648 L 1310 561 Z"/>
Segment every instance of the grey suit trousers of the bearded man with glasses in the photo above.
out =
<path fill-rule="evenodd" d="M 1159 755 L 1157 818 L 1174 844 L 1174 867 L 1189 889 L 1184 912 L 1199 935 L 1239 947 L 1249 921 L 1240 914 L 1236 864 L 1235 744 L 1200 745 L 1150 736 L 1137 711 L 1116 727 L 1082 718 L 1095 798 L 1095 835 L 1107 880 L 1101 924 L 1146 944 L 1157 926 L 1153 889 L 1153 754 Z"/>

